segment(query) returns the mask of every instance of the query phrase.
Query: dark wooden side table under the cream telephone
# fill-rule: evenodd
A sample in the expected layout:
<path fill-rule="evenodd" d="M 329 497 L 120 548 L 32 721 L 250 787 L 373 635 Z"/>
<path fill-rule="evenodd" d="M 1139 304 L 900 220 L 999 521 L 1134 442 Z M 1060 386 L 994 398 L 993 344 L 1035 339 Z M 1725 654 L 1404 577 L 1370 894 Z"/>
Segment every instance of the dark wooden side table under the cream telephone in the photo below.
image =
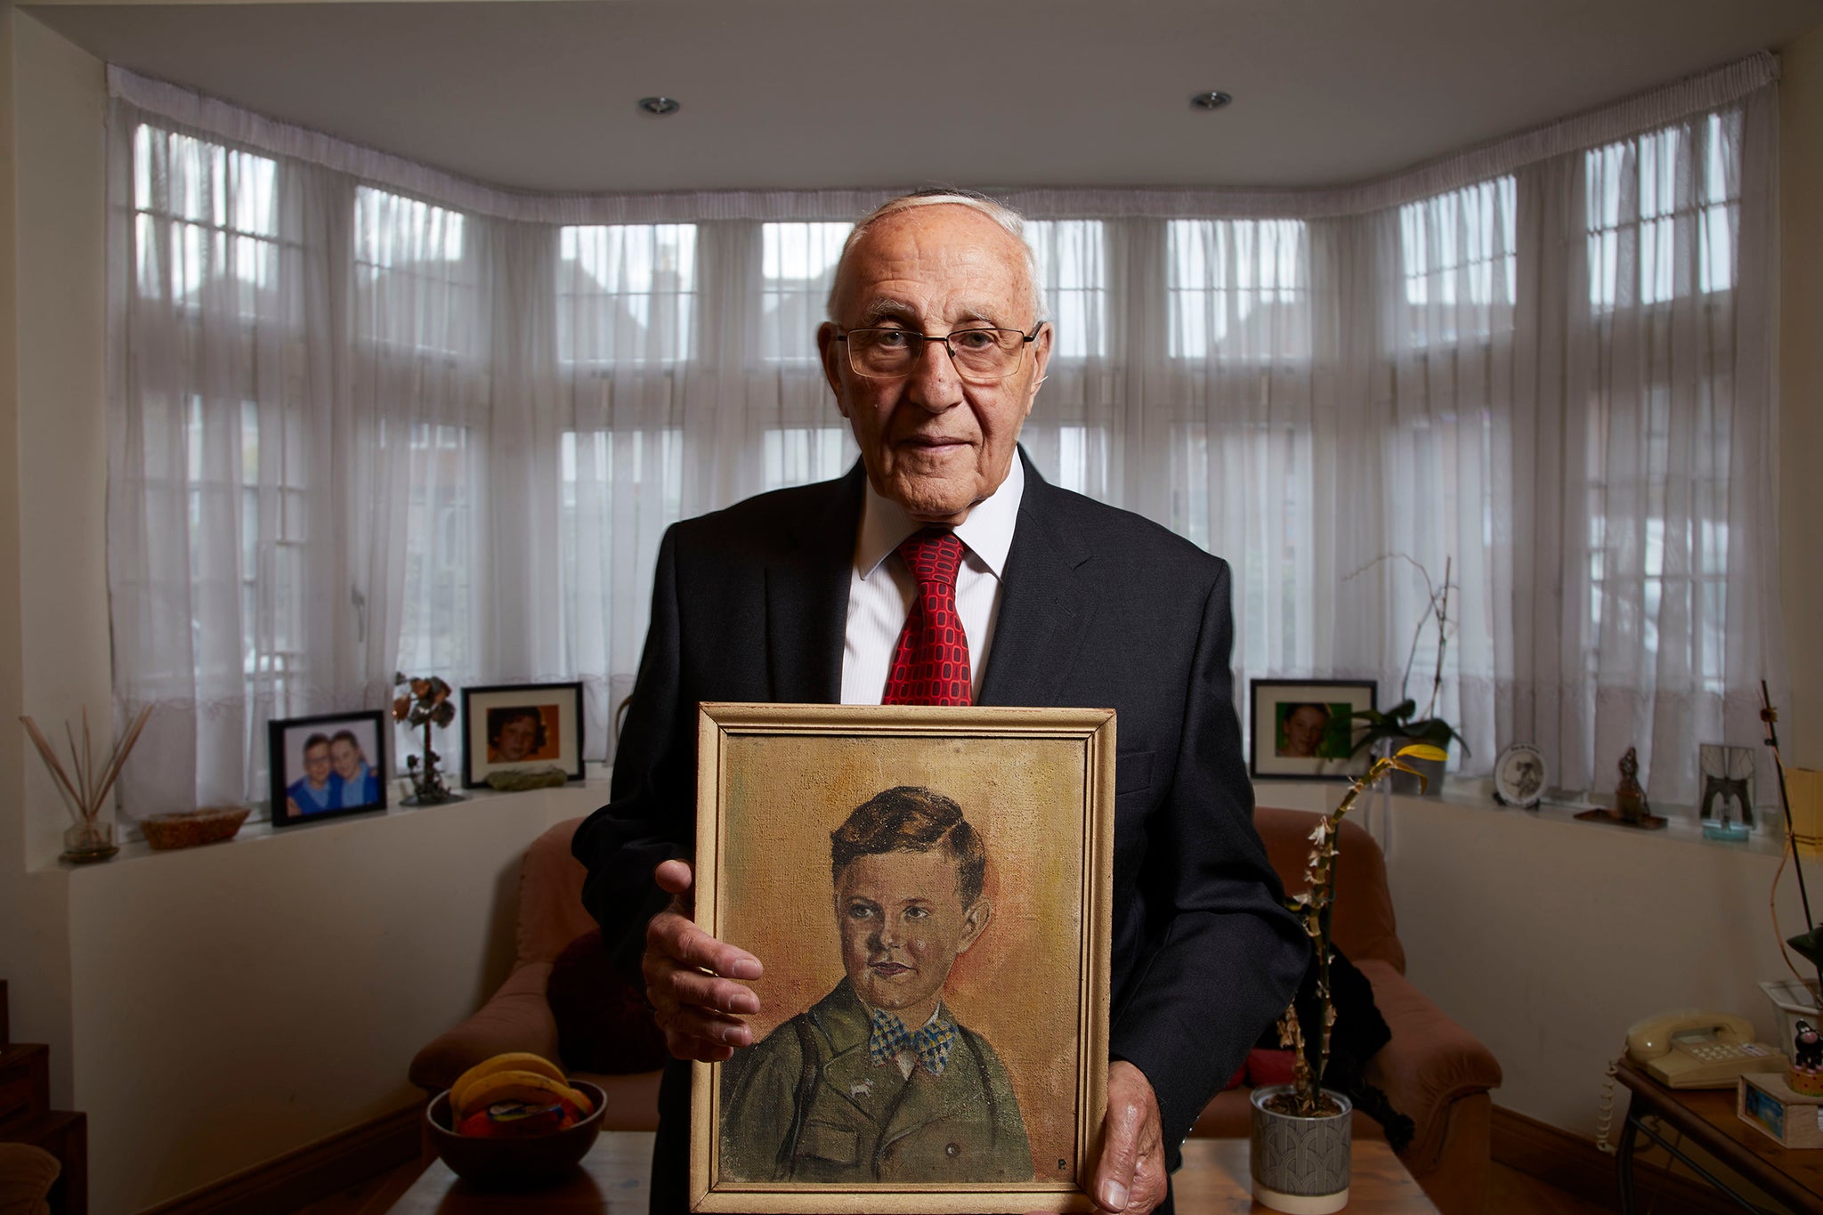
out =
<path fill-rule="evenodd" d="M 1734 1111 L 1735 1093 L 1728 1089 L 1670 1089 L 1648 1077 L 1626 1058 L 1613 1069 L 1615 1080 L 1632 1093 L 1626 1108 L 1626 1128 L 1621 1131 L 1621 1146 L 1615 1149 L 1617 1180 L 1621 1186 L 1621 1211 L 1633 1215 L 1633 1148 L 1639 1135 L 1683 1160 L 1710 1186 L 1728 1195 L 1741 1210 L 1759 1211 L 1726 1179 L 1717 1177 L 1706 1164 L 1694 1160 L 1657 1129 L 1644 1124 L 1644 1118 L 1657 1118 L 1664 1126 L 1683 1133 L 1703 1151 L 1725 1164 L 1728 1171 L 1763 1189 L 1772 1199 L 1794 1211 L 1823 1210 L 1823 1151 L 1805 1151 L 1781 1148 L 1765 1133 L 1741 1122 Z"/>

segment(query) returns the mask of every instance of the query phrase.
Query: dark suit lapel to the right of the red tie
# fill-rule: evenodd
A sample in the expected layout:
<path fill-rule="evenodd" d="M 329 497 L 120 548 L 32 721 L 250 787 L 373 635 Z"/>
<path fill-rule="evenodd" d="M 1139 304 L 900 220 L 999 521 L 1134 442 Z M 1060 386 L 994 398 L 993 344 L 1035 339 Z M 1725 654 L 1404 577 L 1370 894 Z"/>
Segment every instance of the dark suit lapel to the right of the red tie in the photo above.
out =
<path fill-rule="evenodd" d="M 1025 452 L 1019 452 L 1025 459 Z M 994 652 L 981 681 L 983 705 L 1050 707 L 1094 618 L 1083 577 L 1088 554 L 1056 532 L 1048 501 L 1059 494 L 1026 461 L 1014 546 L 1006 554 Z"/>

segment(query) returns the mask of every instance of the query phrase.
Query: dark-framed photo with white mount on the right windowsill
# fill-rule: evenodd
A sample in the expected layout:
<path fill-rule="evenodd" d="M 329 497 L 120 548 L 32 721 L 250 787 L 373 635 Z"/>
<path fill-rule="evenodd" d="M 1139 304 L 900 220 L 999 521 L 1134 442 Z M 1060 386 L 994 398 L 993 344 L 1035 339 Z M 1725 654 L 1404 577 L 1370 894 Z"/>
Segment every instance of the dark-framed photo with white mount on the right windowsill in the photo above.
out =
<path fill-rule="evenodd" d="M 1254 778 L 1347 780 L 1365 772 L 1373 758 L 1353 750 L 1367 723 L 1349 714 L 1378 709 L 1376 687 L 1362 679 L 1254 679 Z"/>

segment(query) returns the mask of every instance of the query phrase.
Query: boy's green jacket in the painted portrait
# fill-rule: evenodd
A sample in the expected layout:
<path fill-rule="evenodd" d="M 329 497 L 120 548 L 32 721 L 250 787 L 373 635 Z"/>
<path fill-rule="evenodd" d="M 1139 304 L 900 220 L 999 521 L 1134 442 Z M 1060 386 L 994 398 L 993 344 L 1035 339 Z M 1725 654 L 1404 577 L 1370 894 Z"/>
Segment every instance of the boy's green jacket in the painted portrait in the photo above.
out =
<path fill-rule="evenodd" d="M 1019 1100 L 986 1038 L 955 1022 L 942 1075 L 906 1078 L 868 1060 L 870 1027 L 844 978 L 722 1066 L 724 1180 L 1032 1180 Z"/>

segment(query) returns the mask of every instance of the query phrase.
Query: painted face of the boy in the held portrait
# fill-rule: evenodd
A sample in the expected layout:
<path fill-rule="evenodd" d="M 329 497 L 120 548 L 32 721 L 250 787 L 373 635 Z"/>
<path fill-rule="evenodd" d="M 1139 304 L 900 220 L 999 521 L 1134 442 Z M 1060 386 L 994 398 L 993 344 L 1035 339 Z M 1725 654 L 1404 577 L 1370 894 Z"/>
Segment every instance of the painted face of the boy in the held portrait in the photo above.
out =
<path fill-rule="evenodd" d="M 855 993 L 917 1029 L 937 1007 L 955 958 L 988 925 L 988 900 L 963 907 L 942 851 L 857 856 L 835 880 L 842 967 Z"/>

